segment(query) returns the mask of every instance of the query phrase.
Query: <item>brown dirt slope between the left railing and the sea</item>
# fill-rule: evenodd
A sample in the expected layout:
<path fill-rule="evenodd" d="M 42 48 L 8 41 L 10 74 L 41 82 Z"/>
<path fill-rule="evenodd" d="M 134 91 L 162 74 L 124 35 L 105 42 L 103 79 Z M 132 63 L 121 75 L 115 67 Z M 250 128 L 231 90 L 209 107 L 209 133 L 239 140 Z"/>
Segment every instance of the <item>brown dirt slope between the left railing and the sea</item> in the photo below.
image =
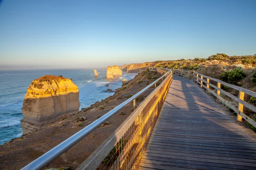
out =
<path fill-rule="evenodd" d="M 87 126 L 88 122 L 93 122 L 111 111 L 120 103 L 128 99 L 132 94 L 136 94 L 145 88 L 160 74 L 150 74 L 149 71 L 143 71 L 134 79 L 126 82 L 121 88 L 116 89 L 113 96 L 96 102 L 89 108 L 84 108 L 78 113 L 65 115 L 55 122 L 49 123 L 36 132 L 26 134 L 0 146 L 0 170 L 19 170 L 26 166 L 39 156 L 43 155 L 56 145 L 63 142 L 79 130 Z M 149 88 L 143 96 L 138 99 L 136 105 L 139 105 L 154 88 Z M 127 97 L 128 96 L 128 97 Z M 109 125 L 100 126 L 70 150 L 62 154 L 58 159 L 50 163 L 47 168 L 70 167 L 76 169 L 99 145 L 116 130 L 119 125 L 132 113 L 133 103 L 127 105 L 122 111 L 112 116 L 108 122 Z M 81 122 L 79 117 L 86 117 L 87 120 Z M 82 124 L 82 127 L 79 126 Z"/>

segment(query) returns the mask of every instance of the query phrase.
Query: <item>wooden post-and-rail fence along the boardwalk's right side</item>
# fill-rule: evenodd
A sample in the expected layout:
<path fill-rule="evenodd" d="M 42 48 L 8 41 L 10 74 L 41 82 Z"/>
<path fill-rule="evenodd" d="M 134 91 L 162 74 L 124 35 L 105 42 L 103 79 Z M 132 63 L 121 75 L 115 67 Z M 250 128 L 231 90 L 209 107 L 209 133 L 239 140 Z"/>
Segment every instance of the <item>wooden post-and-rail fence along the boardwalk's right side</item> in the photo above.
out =
<path fill-rule="evenodd" d="M 213 85 L 209 80 L 212 80 L 212 82 L 215 82 L 215 84 L 217 83 L 217 86 Z M 249 122 L 251 125 L 256 127 L 256 122 L 253 119 L 250 119 L 250 117 L 248 117 L 247 115 L 245 115 L 243 113 L 244 112 L 244 106 L 246 108 L 250 109 L 251 111 L 256 112 L 256 107 L 255 106 L 253 106 L 250 103 L 244 101 L 244 94 L 248 94 L 249 96 L 256 97 L 255 92 L 249 91 L 245 88 L 241 88 L 241 87 L 236 86 L 236 85 L 231 85 L 227 82 L 223 82 L 219 79 L 214 79 L 212 77 L 208 77 L 208 76 L 205 76 L 205 75 L 197 73 L 197 72 L 193 72 L 193 81 L 196 81 L 201 86 L 201 88 L 205 88 L 207 93 L 213 94 L 217 98 L 217 102 L 223 102 L 225 105 L 227 105 L 233 111 L 235 111 L 237 113 L 237 116 L 236 116 L 237 121 L 241 122 L 242 119 L 244 119 L 247 122 Z M 229 88 L 233 88 L 233 89 L 238 90 L 239 91 L 239 97 L 236 97 L 236 96 L 228 93 L 227 91 L 224 91 L 223 89 L 221 89 L 221 85 L 226 85 Z M 213 89 L 210 89 L 209 86 L 211 86 Z M 215 90 L 216 90 L 216 92 L 214 92 Z M 230 97 L 234 101 L 238 102 L 238 107 L 236 108 L 236 106 L 231 105 L 230 102 L 228 102 L 227 100 L 222 98 L 221 93 Z"/>

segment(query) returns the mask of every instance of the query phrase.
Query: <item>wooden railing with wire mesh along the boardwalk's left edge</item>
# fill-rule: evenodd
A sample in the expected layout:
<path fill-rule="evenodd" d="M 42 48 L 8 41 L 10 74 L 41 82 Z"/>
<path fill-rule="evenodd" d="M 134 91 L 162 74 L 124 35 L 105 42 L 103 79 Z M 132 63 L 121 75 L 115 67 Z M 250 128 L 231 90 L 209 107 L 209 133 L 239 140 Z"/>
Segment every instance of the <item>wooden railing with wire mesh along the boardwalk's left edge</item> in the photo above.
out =
<path fill-rule="evenodd" d="M 165 74 L 162 82 L 149 94 L 131 115 L 105 140 L 77 170 L 138 169 L 154 123 L 172 82 L 172 71 L 157 68 Z M 165 78 L 165 79 L 164 79 Z M 102 164 L 101 164 L 102 163 Z"/>

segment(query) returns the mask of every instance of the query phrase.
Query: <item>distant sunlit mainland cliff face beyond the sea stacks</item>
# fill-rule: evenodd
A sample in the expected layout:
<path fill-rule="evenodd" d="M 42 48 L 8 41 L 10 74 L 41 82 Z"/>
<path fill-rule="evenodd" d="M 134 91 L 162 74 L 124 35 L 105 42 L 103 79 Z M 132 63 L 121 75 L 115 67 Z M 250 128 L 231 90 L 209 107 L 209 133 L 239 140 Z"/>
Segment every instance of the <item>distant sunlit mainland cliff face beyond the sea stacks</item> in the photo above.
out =
<path fill-rule="evenodd" d="M 128 73 L 140 73 L 144 70 L 146 70 L 148 67 L 153 67 L 155 65 L 154 62 L 144 62 L 141 64 L 129 64 L 129 65 L 123 65 L 119 66 L 123 71 L 126 71 Z"/>

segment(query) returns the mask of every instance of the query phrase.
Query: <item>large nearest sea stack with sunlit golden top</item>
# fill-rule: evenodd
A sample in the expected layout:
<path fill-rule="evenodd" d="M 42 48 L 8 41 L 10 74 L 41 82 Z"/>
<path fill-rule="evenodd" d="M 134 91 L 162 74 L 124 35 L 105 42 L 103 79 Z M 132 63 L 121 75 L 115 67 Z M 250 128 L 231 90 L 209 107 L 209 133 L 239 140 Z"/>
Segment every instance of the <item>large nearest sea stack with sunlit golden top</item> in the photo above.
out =
<path fill-rule="evenodd" d="M 32 81 L 22 107 L 22 133 L 38 130 L 44 123 L 79 111 L 79 90 L 72 79 L 46 75 Z"/>

